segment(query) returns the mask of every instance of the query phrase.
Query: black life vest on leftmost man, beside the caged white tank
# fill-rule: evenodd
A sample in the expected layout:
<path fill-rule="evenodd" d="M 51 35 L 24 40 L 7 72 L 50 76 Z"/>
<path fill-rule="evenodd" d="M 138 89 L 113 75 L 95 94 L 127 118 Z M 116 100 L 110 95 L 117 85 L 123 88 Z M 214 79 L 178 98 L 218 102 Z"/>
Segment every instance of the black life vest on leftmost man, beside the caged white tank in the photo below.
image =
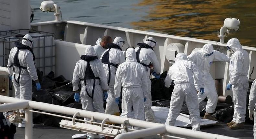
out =
<path fill-rule="evenodd" d="M 16 53 L 14 55 L 13 63 L 9 66 L 9 68 L 13 66 L 13 73 L 15 73 L 14 66 L 19 67 L 18 79 L 16 80 L 15 76 L 13 77 L 14 80 L 19 84 L 21 69 L 26 69 L 27 70 L 27 67 L 23 67 L 23 66 L 20 65 L 20 62 L 19 62 L 19 50 L 22 50 L 22 49 L 29 50 L 33 54 L 33 60 L 34 61 L 35 61 L 35 55 L 34 55 L 34 52 L 33 52 L 32 48 L 30 48 L 29 46 L 23 45 L 20 42 L 15 42 L 15 46 L 16 46 L 16 48 L 18 48 L 18 50 L 16 51 Z"/>

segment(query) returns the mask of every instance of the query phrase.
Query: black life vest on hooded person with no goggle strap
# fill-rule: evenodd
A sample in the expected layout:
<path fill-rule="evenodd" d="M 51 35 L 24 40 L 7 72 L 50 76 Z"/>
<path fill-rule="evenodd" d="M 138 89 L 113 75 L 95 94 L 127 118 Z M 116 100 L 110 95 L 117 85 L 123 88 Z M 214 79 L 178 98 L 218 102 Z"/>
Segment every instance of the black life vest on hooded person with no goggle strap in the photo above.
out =
<path fill-rule="evenodd" d="M 95 77 L 93 71 L 92 71 L 92 68 L 91 68 L 91 65 L 90 65 L 90 61 L 92 60 L 95 60 L 95 59 L 98 59 L 97 56 L 87 56 L 87 55 L 82 55 L 80 57 L 82 60 L 84 61 L 87 61 L 87 66 L 86 66 L 86 70 L 85 70 L 85 77 L 80 79 L 80 81 L 84 81 L 85 82 L 85 85 L 86 85 L 86 80 L 87 79 L 94 79 L 93 81 L 93 87 L 92 87 L 92 95 L 90 95 L 87 91 L 87 87 L 85 88 L 85 91 L 87 93 L 87 95 L 93 99 L 93 96 L 94 96 L 94 88 L 95 88 L 95 80 L 99 80 L 100 78 L 99 77 Z"/>

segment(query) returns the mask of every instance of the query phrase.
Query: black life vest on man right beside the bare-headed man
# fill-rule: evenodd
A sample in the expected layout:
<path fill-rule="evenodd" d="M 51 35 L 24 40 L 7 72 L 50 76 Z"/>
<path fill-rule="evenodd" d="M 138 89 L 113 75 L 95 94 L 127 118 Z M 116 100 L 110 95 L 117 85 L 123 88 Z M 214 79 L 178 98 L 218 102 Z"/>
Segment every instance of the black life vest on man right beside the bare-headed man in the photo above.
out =
<path fill-rule="evenodd" d="M 107 49 L 108 51 L 106 51 L 103 56 L 102 56 L 102 59 L 101 59 L 101 62 L 103 64 L 108 64 L 108 69 L 109 69 L 109 80 L 108 80 L 108 85 L 109 85 L 109 82 L 110 82 L 110 65 L 114 66 L 117 68 L 118 64 L 113 64 L 113 63 L 110 63 L 109 62 L 109 50 L 112 49 L 112 48 L 117 48 L 119 50 L 122 51 L 122 49 L 120 48 L 120 46 L 118 46 L 117 44 L 114 44 L 114 43 L 111 43 L 111 44 L 108 44 L 107 45 Z"/>

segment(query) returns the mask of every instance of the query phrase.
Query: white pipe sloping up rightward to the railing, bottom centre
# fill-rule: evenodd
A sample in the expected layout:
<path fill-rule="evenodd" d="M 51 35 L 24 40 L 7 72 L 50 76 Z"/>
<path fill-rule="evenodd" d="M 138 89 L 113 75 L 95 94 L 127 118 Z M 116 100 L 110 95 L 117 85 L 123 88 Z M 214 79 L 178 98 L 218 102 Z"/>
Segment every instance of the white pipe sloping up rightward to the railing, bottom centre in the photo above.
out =
<path fill-rule="evenodd" d="M 166 132 L 165 125 L 161 125 L 157 127 L 141 129 L 138 131 L 122 133 L 117 135 L 115 139 L 136 139 L 136 138 L 142 138 L 142 137 L 156 135 L 156 134 L 163 134 L 165 132 Z"/>

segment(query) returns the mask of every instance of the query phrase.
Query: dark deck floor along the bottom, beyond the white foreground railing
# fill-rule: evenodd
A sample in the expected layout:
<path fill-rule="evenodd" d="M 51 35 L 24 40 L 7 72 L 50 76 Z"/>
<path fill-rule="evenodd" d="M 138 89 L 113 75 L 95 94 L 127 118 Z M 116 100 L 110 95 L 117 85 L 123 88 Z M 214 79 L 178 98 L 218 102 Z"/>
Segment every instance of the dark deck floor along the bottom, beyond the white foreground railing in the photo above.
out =
<path fill-rule="evenodd" d="M 226 123 L 221 122 L 221 125 L 201 127 L 201 131 L 241 139 L 253 139 L 253 124 L 250 123 L 246 123 L 244 129 L 230 130 L 226 126 Z M 36 124 L 33 128 L 33 139 L 71 139 L 71 136 L 74 134 L 83 134 L 83 132 L 38 124 Z M 23 138 L 25 138 L 25 129 L 17 128 L 15 139 Z"/>

